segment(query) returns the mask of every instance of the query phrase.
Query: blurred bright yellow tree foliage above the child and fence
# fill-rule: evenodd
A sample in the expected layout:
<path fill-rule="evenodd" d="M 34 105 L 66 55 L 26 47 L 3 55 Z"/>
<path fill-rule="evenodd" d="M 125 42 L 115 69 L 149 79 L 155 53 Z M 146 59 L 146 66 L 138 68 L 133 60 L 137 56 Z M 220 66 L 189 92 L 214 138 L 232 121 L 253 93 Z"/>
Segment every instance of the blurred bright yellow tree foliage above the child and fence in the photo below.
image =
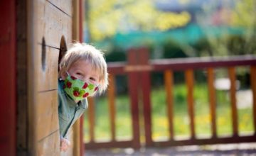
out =
<path fill-rule="evenodd" d="M 133 30 L 179 28 L 191 21 L 188 12 L 159 11 L 151 0 L 88 0 L 87 5 L 87 23 L 93 42 Z"/>

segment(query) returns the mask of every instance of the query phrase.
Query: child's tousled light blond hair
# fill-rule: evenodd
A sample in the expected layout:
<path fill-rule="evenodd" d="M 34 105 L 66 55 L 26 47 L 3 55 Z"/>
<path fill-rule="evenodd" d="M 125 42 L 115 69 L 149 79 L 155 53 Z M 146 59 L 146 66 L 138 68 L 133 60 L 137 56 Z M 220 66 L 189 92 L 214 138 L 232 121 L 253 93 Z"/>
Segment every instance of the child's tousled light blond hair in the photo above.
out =
<path fill-rule="evenodd" d="M 72 47 L 65 53 L 60 60 L 60 71 L 58 77 L 68 72 L 68 69 L 77 62 L 78 60 L 87 60 L 91 63 L 94 68 L 100 74 L 99 93 L 107 89 L 108 85 L 108 74 L 107 74 L 107 63 L 104 58 L 103 52 L 97 50 L 92 45 L 86 43 L 73 43 Z"/>

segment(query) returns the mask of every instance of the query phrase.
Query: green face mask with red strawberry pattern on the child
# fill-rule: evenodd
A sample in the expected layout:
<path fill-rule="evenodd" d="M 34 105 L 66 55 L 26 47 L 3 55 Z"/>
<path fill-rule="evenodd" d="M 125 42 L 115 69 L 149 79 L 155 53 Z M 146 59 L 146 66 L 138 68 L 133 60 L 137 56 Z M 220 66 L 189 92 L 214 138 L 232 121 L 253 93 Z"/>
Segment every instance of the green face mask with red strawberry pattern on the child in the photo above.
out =
<path fill-rule="evenodd" d="M 65 78 L 63 89 L 74 101 L 80 101 L 87 96 L 92 96 L 98 87 L 68 74 L 68 77 Z"/>

